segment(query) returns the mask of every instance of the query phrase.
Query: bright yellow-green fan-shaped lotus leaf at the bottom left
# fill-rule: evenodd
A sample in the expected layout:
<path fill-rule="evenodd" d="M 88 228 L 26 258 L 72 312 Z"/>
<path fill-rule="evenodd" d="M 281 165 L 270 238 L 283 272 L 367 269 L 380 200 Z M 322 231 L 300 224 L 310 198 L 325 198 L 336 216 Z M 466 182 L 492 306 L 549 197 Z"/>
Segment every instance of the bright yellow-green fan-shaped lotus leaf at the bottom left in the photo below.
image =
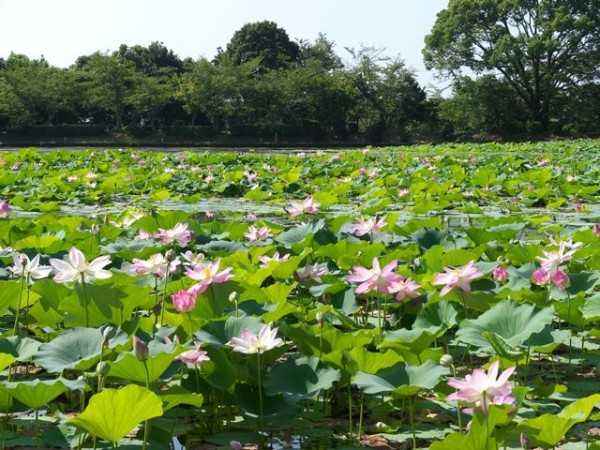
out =
<path fill-rule="evenodd" d="M 68 422 L 106 441 L 117 442 L 141 422 L 162 414 L 160 397 L 130 384 L 92 396 L 87 408 Z"/>

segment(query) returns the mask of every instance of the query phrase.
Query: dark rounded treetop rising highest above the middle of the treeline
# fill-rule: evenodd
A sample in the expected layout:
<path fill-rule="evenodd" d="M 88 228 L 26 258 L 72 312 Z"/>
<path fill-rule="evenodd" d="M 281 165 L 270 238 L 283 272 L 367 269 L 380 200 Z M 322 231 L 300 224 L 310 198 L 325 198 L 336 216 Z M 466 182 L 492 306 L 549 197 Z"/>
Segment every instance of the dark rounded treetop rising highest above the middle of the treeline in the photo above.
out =
<path fill-rule="evenodd" d="M 255 22 L 236 31 L 225 51 L 219 49 L 215 62 L 219 64 L 224 57 L 238 65 L 259 58 L 264 72 L 298 63 L 300 47 L 275 22 Z"/>

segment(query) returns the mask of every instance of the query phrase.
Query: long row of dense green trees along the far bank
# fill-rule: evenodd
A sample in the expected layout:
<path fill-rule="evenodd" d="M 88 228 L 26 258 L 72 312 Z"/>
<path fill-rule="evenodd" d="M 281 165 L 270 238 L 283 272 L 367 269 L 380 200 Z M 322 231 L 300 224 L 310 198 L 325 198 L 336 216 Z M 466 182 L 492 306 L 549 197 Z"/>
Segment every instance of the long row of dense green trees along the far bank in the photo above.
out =
<path fill-rule="evenodd" d="M 292 41 L 273 22 L 247 24 L 213 60 L 181 59 L 160 42 L 79 57 L 66 69 L 11 54 L 0 59 L 0 130 L 82 136 L 160 132 L 179 137 L 446 138 L 600 129 L 600 85 L 565 90 L 549 120 L 532 114 L 495 75 L 454 79 L 427 95 L 399 58 L 346 49 L 325 35 Z"/>

